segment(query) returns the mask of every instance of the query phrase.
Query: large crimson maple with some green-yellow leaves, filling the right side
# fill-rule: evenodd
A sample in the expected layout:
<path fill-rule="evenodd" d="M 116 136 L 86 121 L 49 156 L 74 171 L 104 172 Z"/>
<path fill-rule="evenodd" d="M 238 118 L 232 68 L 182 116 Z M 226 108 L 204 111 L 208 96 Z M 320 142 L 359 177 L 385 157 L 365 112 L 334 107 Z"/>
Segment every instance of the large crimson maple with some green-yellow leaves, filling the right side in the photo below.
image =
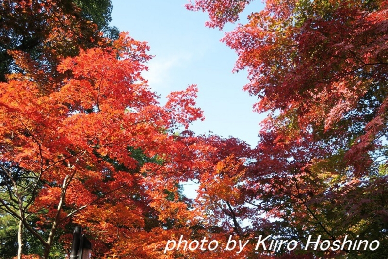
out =
<path fill-rule="evenodd" d="M 187 8 L 208 12 L 206 25 L 222 29 L 250 2 L 195 0 Z M 222 39 L 238 54 L 234 71 L 248 69 L 244 90 L 258 97 L 254 109 L 269 113 L 240 188 L 266 215 L 252 218 L 251 231 L 361 236 L 381 243 L 364 257 L 384 257 L 388 2 L 265 4 Z"/>

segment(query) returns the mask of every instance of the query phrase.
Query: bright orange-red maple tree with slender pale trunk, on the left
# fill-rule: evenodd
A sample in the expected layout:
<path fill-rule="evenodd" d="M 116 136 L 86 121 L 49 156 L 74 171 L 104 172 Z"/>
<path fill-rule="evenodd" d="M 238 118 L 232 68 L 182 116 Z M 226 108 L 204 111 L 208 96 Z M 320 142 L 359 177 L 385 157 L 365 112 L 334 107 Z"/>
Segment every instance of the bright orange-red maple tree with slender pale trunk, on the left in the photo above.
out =
<path fill-rule="evenodd" d="M 73 223 L 97 233 L 96 253 L 103 255 L 115 251 L 113 241 L 120 236 L 140 235 L 135 230 L 145 227 L 145 220 L 157 226 L 169 220 L 155 214 L 153 207 L 160 206 L 155 199 L 177 195 L 181 172 L 195 162 L 190 150 L 197 150 L 172 130 L 187 128 L 202 112 L 194 107 L 194 86 L 158 105 L 141 77 L 151 57 L 147 50 L 144 42 L 123 34 L 113 48 L 81 50 L 64 59 L 58 66 L 65 74 L 60 83 L 46 81 L 23 59 L 17 65 L 24 73 L 1 83 L 1 174 L 6 182 L 0 208 L 19 220 L 19 233 L 25 228 L 40 241 L 43 258 L 56 233 Z M 182 201 L 169 206 L 165 210 L 187 209 Z M 112 228 L 110 237 L 105 232 Z"/>

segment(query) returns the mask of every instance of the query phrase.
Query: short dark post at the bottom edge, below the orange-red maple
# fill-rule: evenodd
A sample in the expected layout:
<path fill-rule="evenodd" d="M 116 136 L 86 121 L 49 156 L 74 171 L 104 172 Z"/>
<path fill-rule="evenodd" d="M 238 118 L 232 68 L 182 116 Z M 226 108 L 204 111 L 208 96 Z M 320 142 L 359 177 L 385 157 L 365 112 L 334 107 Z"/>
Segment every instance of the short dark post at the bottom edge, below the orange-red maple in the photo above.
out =
<path fill-rule="evenodd" d="M 74 227 L 70 259 L 89 259 L 92 243 L 82 234 L 82 227 Z"/>

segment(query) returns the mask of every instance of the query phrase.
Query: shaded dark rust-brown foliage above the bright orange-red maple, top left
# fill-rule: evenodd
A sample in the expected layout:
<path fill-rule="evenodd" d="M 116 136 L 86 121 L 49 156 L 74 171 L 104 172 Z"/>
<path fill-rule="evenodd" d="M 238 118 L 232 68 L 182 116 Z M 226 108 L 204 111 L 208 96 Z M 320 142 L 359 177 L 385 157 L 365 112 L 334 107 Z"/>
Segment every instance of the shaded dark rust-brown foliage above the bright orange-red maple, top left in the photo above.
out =
<path fill-rule="evenodd" d="M 15 60 L 18 51 L 48 78 L 55 78 L 61 58 L 101 44 L 99 30 L 113 39 L 118 37 L 117 28 L 109 27 L 111 11 L 110 0 L 1 1 L 0 81 L 22 71 Z"/>

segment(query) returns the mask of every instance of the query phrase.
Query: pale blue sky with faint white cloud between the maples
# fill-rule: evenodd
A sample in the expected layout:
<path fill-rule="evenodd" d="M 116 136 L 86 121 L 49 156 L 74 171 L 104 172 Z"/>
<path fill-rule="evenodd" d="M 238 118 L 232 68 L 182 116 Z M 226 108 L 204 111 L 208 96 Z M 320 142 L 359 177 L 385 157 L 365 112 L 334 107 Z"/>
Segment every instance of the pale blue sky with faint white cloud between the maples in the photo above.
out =
<path fill-rule="evenodd" d="M 206 119 L 195 122 L 191 130 L 197 134 L 212 131 L 223 137 L 233 136 L 256 146 L 259 122 L 264 115 L 252 112 L 256 97 L 242 91 L 248 82 L 247 73 L 231 72 L 237 54 L 220 42 L 224 32 L 235 25 L 227 25 L 224 32 L 206 28 L 207 14 L 187 11 L 186 3 L 186 0 L 113 0 L 111 25 L 128 31 L 136 40 L 148 42 L 150 54 L 155 57 L 144 77 L 161 96 L 161 103 L 171 91 L 197 84 L 197 106 Z M 242 18 L 261 8 L 262 3 L 254 1 Z"/>

